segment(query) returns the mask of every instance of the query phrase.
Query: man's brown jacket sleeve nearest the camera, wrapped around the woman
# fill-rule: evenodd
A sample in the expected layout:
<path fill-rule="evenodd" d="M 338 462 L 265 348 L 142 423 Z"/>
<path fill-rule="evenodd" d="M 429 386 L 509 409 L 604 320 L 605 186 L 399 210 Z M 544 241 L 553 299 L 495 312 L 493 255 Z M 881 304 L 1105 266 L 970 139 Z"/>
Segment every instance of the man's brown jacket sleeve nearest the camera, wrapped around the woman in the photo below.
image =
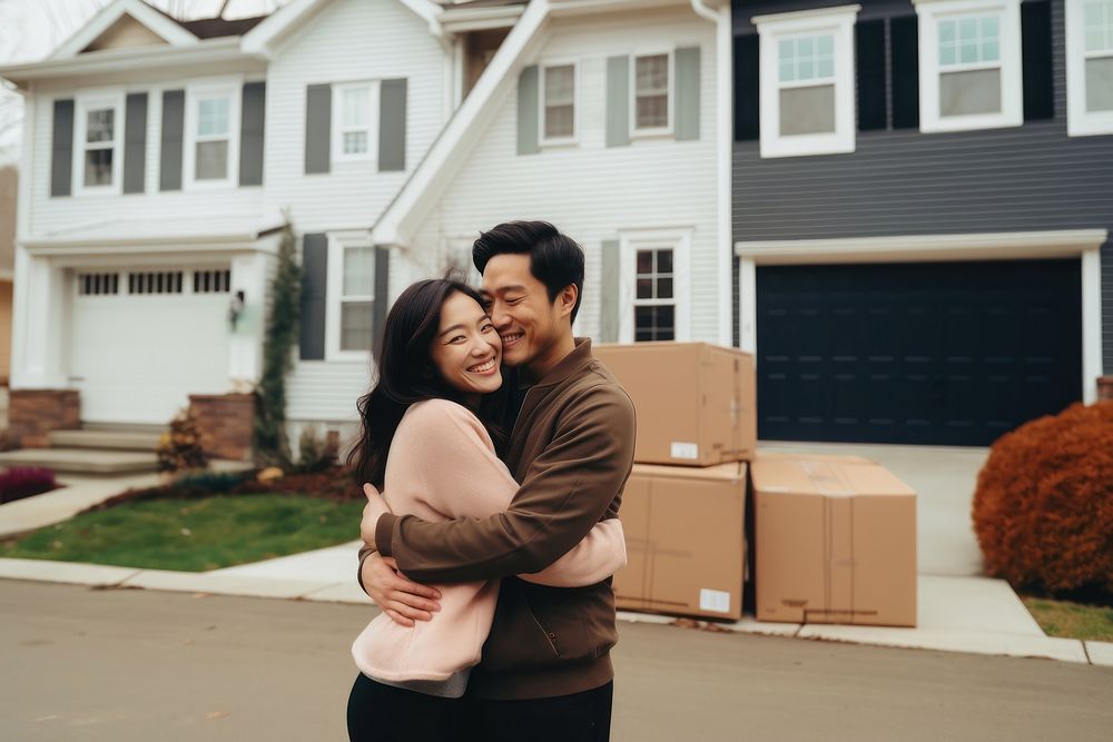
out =
<path fill-rule="evenodd" d="M 633 445 L 630 398 L 613 385 L 597 385 L 562 412 L 555 435 L 509 509 L 444 523 L 384 515 L 375 528 L 376 545 L 418 582 L 540 572 L 604 517 L 630 474 Z"/>

